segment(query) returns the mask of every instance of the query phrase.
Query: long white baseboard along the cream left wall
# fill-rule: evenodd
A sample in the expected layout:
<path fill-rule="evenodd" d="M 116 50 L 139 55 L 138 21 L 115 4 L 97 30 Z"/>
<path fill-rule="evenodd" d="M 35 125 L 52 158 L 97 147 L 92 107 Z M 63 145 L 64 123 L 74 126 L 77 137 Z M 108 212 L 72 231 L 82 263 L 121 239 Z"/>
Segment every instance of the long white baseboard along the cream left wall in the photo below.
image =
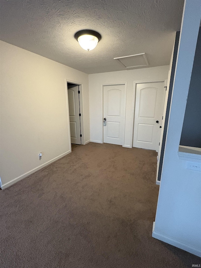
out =
<path fill-rule="evenodd" d="M 28 171 L 28 172 L 26 172 L 26 173 L 20 175 L 20 176 L 17 177 L 17 178 L 14 178 L 13 180 L 9 181 L 8 183 L 2 184 L 2 185 L 1 185 L 1 189 L 2 189 L 2 190 L 3 190 L 3 189 L 6 189 L 7 187 L 11 186 L 12 184 L 14 184 L 14 183 L 20 181 L 21 179 L 23 179 L 23 178 L 29 176 L 30 174 L 36 172 L 37 170 L 39 170 L 39 169 L 41 169 L 41 168 L 43 168 L 43 167 L 46 167 L 47 165 L 49 165 L 49 164 L 51 164 L 52 162 L 58 160 L 59 158 L 62 158 L 63 156 L 68 155 L 69 153 L 71 153 L 71 150 L 69 150 L 69 151 L 67 151 L 67 152 L 65 152 L 65 153 L 63 153 L 63 154 L 61 154 L 60 156 L 57 156 L 57 157 L 51 159 L 50 161 L 47 161 L 46 163 L 44 163 L 44 164 L 42 164 L 42 165 L 40 165 L 40 166 L 38 166 L 38 167 L 35 167 L 35 168 L 31 169 L 30 171 Z"/>

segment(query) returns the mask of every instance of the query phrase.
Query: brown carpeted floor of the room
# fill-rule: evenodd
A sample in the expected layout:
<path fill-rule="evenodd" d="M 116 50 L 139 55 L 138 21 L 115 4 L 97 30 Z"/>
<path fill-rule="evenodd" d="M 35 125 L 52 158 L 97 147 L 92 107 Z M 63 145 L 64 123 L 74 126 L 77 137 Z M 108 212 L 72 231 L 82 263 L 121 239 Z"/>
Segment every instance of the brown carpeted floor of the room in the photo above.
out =
<path fill-rule="evenodd" d="M 156 152 L 75 146 L 0 191 L 0 267 L 192 267 L 201 259 L 151 237 Z"/>

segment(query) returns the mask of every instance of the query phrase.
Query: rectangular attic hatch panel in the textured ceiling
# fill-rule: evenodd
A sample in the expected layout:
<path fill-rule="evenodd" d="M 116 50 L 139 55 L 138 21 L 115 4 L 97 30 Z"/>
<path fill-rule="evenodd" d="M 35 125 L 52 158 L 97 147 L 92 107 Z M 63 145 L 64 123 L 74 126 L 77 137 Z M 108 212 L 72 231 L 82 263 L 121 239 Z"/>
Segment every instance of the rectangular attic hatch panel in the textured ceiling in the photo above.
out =
<path fill-rule="evenodd" d="M 122 63 L 122 65 L 126 67 L 126 69 L 135 68 L 135 67 L 143 67 L 143 66 L 149 65 L 145 53 L 114 58 L 114 60 L 116 59 L 120 61 L 120 63 Z"/>

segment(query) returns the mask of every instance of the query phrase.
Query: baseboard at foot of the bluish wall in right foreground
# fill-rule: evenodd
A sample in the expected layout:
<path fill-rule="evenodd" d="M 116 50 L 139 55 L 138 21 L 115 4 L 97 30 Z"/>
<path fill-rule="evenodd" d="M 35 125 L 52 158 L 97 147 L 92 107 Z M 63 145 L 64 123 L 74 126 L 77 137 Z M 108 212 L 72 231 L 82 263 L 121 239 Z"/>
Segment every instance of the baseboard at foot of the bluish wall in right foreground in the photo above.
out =
<path fill-rule="evenodd" d="M 154 222 L 154 225 L 153 225 L 153 229 L 154 229 L 154 227 L 155 227 L 155 222 Z M 185 250 L 187 252 L 190 252 L 190 253 L 198 256 L 198 257 L 201 257 L 201 250 L 200 249 L 196 249 L 196 248 L 194 248 L 194 247 L 192 247 L 190 245 L 184 244 L 184 243 L 182 243 L 180 241 L 174 240 L 174 239 L 172 239 L 170 237 L 167 237 L 167 236 L 162 235 L 160 233 L 157 233 L 155 231 L 152 232 L 152 237 L 156 238 L 158 240 L 161 240 L 161 241 L 163 241 L 165 243 L 168 243 L 168 244 L 170 244 L 172 246 L 175 246 L 175 247 L 177 247 L 179 249 L 183 249 L 183 250 Z"/>

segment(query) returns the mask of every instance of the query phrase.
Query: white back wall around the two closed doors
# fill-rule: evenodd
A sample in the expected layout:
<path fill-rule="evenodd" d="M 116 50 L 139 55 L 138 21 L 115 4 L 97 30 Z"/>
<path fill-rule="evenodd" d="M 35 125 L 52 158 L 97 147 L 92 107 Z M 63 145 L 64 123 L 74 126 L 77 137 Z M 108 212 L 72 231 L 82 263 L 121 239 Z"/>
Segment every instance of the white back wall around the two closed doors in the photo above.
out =
<path fill-rule="evenodd" d="M 101 84 L 127 83 L 126 99 L 126 123 L 125 123 L 125 147 L 132 147 L 133 140 L 133 115 L 134 115 L 134 82 L 157 82 L 165 81 L 168 77 L 169 65 L 125 70 L 101 74 L 89 75 L 89 97 L 90 97 L 90 139 L 101 143 L 103 115 L 101 112 L 102 95 Z"/>

